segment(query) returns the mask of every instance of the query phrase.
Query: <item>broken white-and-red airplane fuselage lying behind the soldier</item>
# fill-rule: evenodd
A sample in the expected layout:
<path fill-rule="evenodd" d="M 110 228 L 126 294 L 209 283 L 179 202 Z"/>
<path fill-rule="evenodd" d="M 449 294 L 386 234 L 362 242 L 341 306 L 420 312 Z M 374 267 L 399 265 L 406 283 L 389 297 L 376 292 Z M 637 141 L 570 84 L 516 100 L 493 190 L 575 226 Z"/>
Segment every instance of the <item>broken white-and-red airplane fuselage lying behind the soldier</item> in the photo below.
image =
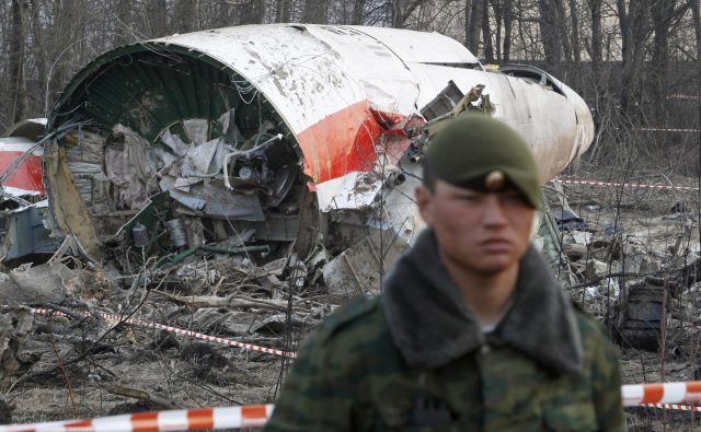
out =
<path fill-rule="evenodd" d="M 122 47 L 77 74 L 49 120 L 61 130 L 45 148 L 50 208 L 95 257 L 164 238 L 295 242 L 306 256 L 368 227 L 411 243 L 424 126 L 456 110 L 515 127 L 543 182 L 594 136 L 563 83 L 531 67 L 486 71 L 436 33 L 220 28 Z"/>

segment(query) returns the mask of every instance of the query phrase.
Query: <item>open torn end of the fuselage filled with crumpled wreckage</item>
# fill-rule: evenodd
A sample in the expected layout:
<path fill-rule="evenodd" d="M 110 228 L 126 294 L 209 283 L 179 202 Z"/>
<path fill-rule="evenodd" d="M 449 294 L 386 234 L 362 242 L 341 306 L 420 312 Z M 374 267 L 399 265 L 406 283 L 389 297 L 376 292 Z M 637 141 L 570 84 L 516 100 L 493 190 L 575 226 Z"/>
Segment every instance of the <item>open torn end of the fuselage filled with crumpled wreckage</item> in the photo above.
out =
<path fill-rule="evenodd" d="M 306 182 L 280 115 L 226 66 L 147 48 L 99 58 L 59 101 L 45 182 L 62 234 L 123 267 L 296 237 Z"/>

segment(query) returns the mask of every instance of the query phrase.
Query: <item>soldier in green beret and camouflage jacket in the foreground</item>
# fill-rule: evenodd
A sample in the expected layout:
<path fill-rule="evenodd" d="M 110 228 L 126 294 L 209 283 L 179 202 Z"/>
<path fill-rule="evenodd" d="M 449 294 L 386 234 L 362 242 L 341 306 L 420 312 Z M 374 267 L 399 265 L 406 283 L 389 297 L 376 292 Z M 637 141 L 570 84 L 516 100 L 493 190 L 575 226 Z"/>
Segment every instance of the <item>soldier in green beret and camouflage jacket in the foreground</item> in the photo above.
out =
<path fill-rule="evenodd" d="M 266 431 L 623 431 L 617 351 L 529 244 L 527 143 L 471 114 L 426 153 L 428 227 L 306 340 Z"/>

